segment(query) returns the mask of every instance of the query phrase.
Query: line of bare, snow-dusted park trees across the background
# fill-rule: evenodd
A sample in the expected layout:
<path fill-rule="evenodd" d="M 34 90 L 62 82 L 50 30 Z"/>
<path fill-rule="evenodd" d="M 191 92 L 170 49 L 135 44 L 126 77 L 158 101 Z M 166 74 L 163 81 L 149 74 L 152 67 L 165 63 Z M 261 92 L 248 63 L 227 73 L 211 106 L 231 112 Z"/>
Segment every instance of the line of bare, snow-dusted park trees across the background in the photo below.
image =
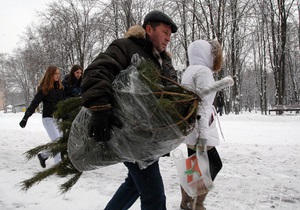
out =
<path fill-rule="evenodd" d="M 223 70 L 234 78 L 226 88 L 226 112 L 259 110 L 272 104 L 299 104 L 299 0 L 54 0 L 37 13 L 12 54 L 0 54 L 5 96 L 32 100 L 46 67 L 66 74 L 83 68 L 114 39 L 142 24 L 151 10 L 161 10 L 178 25 L 168 50 L 178 76 L 189 65 L 188 45 L 217 39 L 223 46 Z"/>

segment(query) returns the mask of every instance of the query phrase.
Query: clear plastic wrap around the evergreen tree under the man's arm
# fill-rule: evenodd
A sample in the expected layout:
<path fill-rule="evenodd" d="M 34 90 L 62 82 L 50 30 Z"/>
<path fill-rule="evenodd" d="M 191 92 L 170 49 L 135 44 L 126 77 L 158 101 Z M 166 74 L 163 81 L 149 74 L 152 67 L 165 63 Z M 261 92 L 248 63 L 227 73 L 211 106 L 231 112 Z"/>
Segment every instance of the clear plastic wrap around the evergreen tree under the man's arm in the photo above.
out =
<path fill-rule="evenodd" d="M 123 124 L 108 142 L 89 136 L 91 113 L 82 108 L 74 120 L 68 152 L 79 171 L 130 161 L 145 168 L 178 147 L 194 126 L 199 97 L 160 75 L 155 66 L 134 58 L 114 80 L 114 112 Z M 162 86 L 162 80 L 170 85 Z"/>

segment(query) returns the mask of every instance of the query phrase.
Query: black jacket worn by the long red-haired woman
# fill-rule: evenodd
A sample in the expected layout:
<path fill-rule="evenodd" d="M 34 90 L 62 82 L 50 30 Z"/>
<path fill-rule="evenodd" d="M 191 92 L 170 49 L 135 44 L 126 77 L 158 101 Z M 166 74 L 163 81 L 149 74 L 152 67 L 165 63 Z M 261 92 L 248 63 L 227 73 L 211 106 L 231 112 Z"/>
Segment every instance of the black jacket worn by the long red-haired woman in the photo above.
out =
<path fill-rule="evenodd" d="M 54 88 L 45 95 L 41 88 L 38 88 L 38 92 L 31 101 L 29 107 L 25 112 L 25 118 L 28 119 L 34 112 L 38 105 L 43 102 L 43 118 L 53 117 L 53 113 L 57 109 L 59 101 L 65 99 L 63 89 L 58 89 L 58 84 L 54 84 Z"/>

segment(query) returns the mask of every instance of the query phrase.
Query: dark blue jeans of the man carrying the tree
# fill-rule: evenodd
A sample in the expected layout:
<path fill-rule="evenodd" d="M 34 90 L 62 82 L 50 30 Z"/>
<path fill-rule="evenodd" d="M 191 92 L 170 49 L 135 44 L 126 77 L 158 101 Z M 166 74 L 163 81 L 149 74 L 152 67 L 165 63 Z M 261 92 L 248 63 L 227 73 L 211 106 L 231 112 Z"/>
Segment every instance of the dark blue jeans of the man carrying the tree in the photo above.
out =
<path fill-rule="evenodd" d="M 127 210 L 140 197 L 141 210 L 166 210 L 166 196 L 158 161 L 145 169 L 136 163 L 124 162 L 128 176 L 105 210 Z"/>

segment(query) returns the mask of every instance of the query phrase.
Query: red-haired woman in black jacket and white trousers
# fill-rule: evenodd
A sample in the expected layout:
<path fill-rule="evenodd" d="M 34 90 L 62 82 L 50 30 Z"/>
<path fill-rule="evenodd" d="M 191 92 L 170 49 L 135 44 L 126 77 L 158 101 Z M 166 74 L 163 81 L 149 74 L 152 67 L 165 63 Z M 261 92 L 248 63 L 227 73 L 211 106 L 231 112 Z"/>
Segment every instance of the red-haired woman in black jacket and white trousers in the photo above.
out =
<path fill-rule="evenodd" d="M 19 123 L 21 128 L 25 128 L 28 118 L 35 112 L 39 104 L 43 103 L 42 122 L 50 137 L 51 141 L 56 141 L 61 137 L 57 122 L 53 118 L 53 113 L 57 109 L 57 103 L 65 99 L 64 89 L 60 80 L 60 71 L 57 66 L 49 66 L 41 79 L 33 100 L 27 108 L 23 119 Z M 46 160 L 49 158 L 50 152 L 43 151 L 38 154 L 38 159 L 43 168 L 46 167 Z M 61 156 L 57 153 L 54 156 L 54 163 L 58 164 Z"/>

